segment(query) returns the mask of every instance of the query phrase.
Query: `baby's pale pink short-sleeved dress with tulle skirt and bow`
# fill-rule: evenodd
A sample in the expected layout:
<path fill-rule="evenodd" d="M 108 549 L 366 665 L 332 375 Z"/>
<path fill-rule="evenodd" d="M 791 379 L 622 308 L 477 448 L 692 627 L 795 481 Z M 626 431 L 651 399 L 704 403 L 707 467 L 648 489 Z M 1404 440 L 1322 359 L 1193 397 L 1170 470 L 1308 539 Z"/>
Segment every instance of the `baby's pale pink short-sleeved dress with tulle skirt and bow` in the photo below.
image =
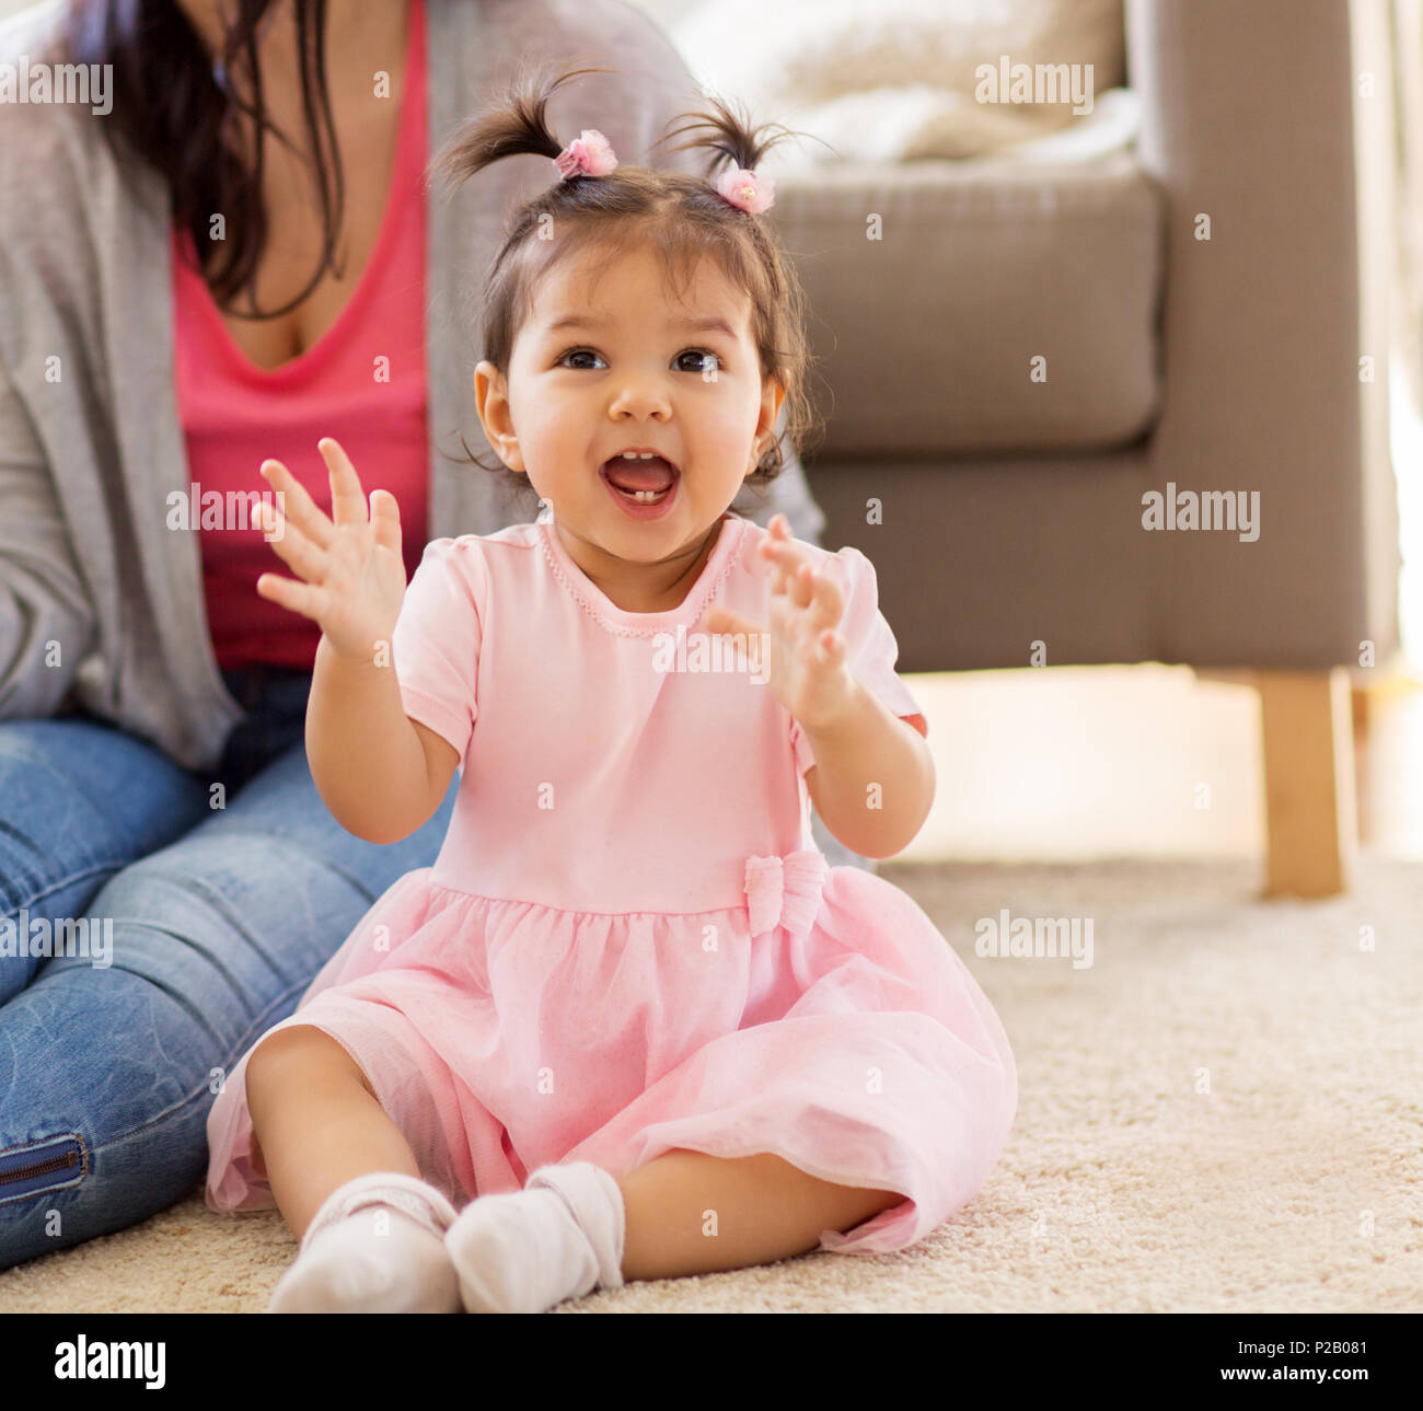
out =
<path fill-rule="evenodd" d="M 998 1014 L 904 892 L 828 866 L 808 742 L 756 659 L 710 654 L 697 626 L 712 602 L 764 622 L 764 535 L 724 516 L 660 613 L 612 603 L 548 512 L 424 550 L 391 656 L 407 714 L 460 751 L 450 829 L 273 1028 L 336 1038 L 457 1206 L 545 1164 L 622 1178 L 672 1148 L 774 1152 L 901 1192 L 817 1246 L 895 1250 L 1002 1151 L 1017 1074 Z M 919 715 L 869 560 L 807 550 L 847 589 L 855 677 Z M 208 1118 L 212 1209 L 273 1203 L 249 1055 Z"/>

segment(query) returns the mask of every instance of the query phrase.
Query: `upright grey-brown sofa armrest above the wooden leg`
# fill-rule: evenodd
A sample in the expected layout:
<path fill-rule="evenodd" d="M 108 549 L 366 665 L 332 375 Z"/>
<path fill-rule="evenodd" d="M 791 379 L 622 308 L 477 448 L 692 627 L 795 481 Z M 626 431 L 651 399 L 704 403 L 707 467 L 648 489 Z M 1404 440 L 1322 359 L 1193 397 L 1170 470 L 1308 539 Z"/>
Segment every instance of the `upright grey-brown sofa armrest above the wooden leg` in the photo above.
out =
<path fill-rule="evenodd" d="M 1382 660 L 1399 572 L 1383 0 L 1127 0 L 1126 20 L 1167 229 L 1141 489 L 1259 492 L 1255 542 L 1155 535 L 1161 659 L 1358 666 L 1369 639 Z"/>

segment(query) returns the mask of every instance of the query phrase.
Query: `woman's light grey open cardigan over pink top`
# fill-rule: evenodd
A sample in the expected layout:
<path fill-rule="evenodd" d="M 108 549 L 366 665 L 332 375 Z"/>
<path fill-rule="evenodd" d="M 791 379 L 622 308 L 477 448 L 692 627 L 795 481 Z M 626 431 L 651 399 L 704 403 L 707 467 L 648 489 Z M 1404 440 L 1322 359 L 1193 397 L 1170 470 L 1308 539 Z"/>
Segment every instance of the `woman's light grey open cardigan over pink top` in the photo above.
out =
<path fill-rule="evenodd" d="M 47 0 L 0 24 L 0 63 L 40 61 L 64 9 Z M 616 0 L 425 10 L 431 154 L 514 63 L 578 57 L 620 73 L 555 95 L 549 117 L 565 141 L 598 128 L 626 162 L 704 169 L 704 149 L 649 152 L 699 94 L 639 11 Z M 174 388 L 171 206 L 155 172 L 118 169 L 101 121 L 88 107 L 0 104 L 0 718 L 53 715 L 73 698 L 211 771 L 245 713 L 213 656 L 199 538 L 165 526 L 168 495 L 191 479 Z M 488 445 L 471 312 L 509 203 L 544 189 L 549 171 L 544 158 L 508 158 L 454 199 L 430 193 L 431 538 L 525 518 L 505 508 L 495 476 L 441 452 L 460 455 L 461 434 L 471 451 Z M 736 508 L 763 523 L 784 511 L 798 538 L 818 542 L 822 515 L 787 461 Z M 286 572 L 275 556 L 272 568 Z"/>

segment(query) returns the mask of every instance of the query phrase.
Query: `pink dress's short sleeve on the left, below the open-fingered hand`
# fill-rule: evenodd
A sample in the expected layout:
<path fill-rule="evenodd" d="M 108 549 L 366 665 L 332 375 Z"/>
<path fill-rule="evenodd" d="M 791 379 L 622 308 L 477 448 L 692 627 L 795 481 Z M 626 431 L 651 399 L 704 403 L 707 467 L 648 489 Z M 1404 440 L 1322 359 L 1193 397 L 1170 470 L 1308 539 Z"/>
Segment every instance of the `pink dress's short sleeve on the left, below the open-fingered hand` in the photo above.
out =
<path fill-rule="evenodd" d="M 431 539 L 406 586 L 390 641 L 406 714 L 448 740 L 461 765 L 478 714 L 484 582 L 475 536 Z"/>

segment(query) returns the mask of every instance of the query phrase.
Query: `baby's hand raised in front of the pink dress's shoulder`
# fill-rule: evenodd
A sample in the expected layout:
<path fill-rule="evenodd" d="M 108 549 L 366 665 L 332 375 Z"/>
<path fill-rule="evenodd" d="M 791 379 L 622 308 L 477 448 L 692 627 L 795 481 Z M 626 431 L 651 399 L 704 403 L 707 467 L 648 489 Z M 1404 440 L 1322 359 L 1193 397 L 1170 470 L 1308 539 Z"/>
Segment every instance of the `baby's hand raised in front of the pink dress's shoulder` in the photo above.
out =
<path fill-rule="evenodd" d="M 835 632 L 845 595 L 827 573 L 817 573 L 777 515 L 760 553 L 771 563 L 770 624 L 751 622 L 713 603 L 703 619 L 709 632 L 767 632 L 767 684 L 804 730 L 831 725 L 850 704 L 854 677 L 845 664 L 847 643 Z"/>

